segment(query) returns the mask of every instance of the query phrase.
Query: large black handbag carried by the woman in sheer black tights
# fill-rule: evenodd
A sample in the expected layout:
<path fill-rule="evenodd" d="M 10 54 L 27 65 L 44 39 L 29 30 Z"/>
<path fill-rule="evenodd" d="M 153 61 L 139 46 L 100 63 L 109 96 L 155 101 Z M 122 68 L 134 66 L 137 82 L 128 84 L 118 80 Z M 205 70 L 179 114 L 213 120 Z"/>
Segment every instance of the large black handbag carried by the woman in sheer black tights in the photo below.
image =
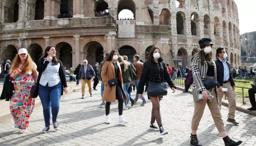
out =
<path fill-rule="evenodd" d="M 155 80 L 155 78 L 159 78 Z M 147 96 L 165 96 L 167 95 L 167 84 L 161 83 L 160 77 L 155 77 L 153 82 L 148 82 Z"/>

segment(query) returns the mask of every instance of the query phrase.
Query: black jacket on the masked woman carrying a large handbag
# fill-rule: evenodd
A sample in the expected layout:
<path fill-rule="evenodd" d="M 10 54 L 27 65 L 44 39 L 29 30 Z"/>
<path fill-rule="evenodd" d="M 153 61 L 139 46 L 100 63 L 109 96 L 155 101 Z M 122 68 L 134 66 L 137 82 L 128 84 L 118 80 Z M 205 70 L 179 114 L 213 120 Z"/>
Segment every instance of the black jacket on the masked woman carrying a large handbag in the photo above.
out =
<path fill-rule="evenodd" d="M 159 67 L 159 68 L 158 68 Z M 144 91 L 144 85 L 147 84 L 149 81 L 153 81 L 155 77 L 159 77 L 160 72 L 160 78 L 161 81 L 166 81 L 170 87 L 174 87 L 176 89 L 176 86 L 173 83 L 173 80 L 171 79 L 171 76 L 169 75 L 167 66 L 163 62 L 163 59 L 160 58 L 159 62 L 152 62 L 152 61 L 146 61 L 143 64 L 143 70 L 141 73 L 140 81 L 138 84 L 138 94 L 142 94 Z M 156 78 L 159 79 L 159 78 Z"/>

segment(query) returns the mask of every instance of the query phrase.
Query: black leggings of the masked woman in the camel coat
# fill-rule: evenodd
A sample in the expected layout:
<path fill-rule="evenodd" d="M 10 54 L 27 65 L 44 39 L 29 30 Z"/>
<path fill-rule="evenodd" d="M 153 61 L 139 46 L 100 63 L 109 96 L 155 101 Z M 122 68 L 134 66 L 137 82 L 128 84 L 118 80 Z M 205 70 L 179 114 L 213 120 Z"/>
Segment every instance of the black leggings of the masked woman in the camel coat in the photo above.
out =
<path fill-rule="evenodd" d="M 118 113 L 119 113 L 119 115 L 122 115 L 123 114 L 124 98 L 123 98 L 123 92 L 119 85 L 116 86 L 116 97 L 118 100 Z M 111 102 L 106 102 L 106 106 L 105 106 L 106 107 L 106 115 L 109 115 L 110 104 L 111 104 Z"/>

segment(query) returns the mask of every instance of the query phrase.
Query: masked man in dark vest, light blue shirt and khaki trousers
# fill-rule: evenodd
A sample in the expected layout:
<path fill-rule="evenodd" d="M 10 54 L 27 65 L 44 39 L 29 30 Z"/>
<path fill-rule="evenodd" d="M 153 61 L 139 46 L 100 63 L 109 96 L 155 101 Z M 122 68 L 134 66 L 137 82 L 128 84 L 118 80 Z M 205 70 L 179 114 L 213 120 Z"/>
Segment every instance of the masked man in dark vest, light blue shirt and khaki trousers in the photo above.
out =
<path fill-rule="evenodd" d="M 228 98 L 228 122 L 232 124 L 239 124 L 234 120 L 235 111 L 236 111 L 236 93 L 234 92 L 235 84 L 232 77 L 232 71 L 230 68 L 230 63 L 226 59 L 228 54 L 224 48 L 218 48 L 216 50 L 217 59 L 215 60 L 216 69 L 217 69 L 217 87 L 218 87 L 218 99 L 219 107 L 221 107 L 221 102 L 223 95 L 225 94 Z M 228 91 L 223 91 L 222 88 L 227 88 Z"/>

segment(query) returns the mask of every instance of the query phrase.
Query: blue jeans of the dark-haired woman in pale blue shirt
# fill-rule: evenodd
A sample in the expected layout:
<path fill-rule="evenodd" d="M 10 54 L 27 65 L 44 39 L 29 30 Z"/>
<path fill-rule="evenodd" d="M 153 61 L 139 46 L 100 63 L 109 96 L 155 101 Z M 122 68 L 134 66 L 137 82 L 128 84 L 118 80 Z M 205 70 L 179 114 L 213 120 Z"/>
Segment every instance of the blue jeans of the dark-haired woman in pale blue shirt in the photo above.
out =
<path fill-rule="evenodd" d="M 52 121 L 57 121 L 61 95 L 61 86 L 61 81 L 53 87 L 49 87 L 48 83 L 46 84 L 46 86 L 42 86 L 41 84 L 39 84 L 38 93 L 43 106 L 45 126 L 50 126 L 51 108 L 53 115 Z"/>

